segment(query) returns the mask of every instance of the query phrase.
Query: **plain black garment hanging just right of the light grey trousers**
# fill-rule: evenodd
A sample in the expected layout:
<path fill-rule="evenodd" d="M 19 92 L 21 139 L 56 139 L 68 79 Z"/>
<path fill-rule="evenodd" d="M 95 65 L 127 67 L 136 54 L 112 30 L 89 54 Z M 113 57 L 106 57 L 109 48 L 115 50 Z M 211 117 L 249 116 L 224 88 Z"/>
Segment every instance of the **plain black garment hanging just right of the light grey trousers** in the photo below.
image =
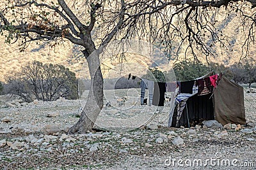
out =
<path fill-rule="evenodd" d="M 154 82 L 153 105 L 164 106 L 164 92 L 166 92 L 165 83 Z"/>

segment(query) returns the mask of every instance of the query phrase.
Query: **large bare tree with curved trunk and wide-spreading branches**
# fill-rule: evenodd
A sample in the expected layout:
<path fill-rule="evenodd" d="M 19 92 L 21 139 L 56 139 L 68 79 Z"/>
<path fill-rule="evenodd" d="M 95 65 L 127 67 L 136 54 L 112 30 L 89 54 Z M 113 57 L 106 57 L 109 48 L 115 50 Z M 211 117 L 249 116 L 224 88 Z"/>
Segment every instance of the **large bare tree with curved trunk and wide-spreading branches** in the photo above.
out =
<path fill-rule="evenodd" d="M 230 48 L 227 37 L 214 24 L 218 22 L 216 15 L 228 17 L 234 11 L 242 18 L 239 26 L 248 36 L 244 55 L 255 41 L 255 12 L 250 10 L 256 6 L 255 0 L 6 0 L 2 6 L 0 30 L 8 31 L 9 43 L 21 39 L 20 50 L 38 40 L 50 41 L 54 46 L 58 40 L 68 39 L 83 46 L 92 85 L 81 117 L 70 133 L 92 130 L 103 107 L 99 55 L 88 56 L 112 39 L 146 38 L 170 56 L 173 50 L 179 55 L 184 48 L 185 56 L 191 54 L 196 60 L 204 54 L 207 58 L 216 55 L 216 48 Z"/>

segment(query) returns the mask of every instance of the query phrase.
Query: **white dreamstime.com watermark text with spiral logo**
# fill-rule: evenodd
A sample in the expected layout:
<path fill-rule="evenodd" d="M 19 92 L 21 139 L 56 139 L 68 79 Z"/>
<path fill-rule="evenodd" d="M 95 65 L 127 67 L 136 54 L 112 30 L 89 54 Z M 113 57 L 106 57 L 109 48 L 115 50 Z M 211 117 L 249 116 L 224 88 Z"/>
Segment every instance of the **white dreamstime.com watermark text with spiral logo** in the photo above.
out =
<path fill-rule="evenodd" d="M 253 167 L 253 162 L 240 162 L 238 159 L 224 159 L 221 152 L 216 152 L 215 157 L 209 159 L 174 159 L 172 156 L 164 161 L 165 166 L 172 167 L 207 167 L 207 166 L 220 166 L 220 167 Z"/>

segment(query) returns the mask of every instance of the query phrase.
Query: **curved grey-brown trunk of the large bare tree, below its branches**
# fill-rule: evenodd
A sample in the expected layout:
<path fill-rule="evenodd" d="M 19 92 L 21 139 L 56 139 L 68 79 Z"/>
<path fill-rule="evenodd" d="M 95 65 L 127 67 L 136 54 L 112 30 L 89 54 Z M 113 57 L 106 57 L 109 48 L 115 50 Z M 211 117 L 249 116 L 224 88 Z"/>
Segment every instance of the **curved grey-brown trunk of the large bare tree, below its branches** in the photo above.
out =
<path fill-rule="evenodd" d="M 94 54 L 94 53 L 93 53 Z M 100 69 L 99 52 L 87 58 L 91 87 L 86 104 L 78 122 L 69 129 L 68 134 L 92 131 L 93 125 L 103 108 L 103 77 Z"/>

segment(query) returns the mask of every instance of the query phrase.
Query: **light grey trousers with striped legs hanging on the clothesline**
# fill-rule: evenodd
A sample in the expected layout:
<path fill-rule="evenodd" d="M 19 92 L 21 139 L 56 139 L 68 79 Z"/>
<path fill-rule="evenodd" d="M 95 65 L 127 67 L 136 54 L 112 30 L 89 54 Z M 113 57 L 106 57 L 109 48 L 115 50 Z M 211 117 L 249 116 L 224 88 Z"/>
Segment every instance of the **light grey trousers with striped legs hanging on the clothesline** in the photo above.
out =
<path fill-rule="evenodd" d="M 140 104 L 143 105 L 145 90 L 148 89 L 149 106 L 151 106 L 153 101 L 154 81 L 142 79 L 140 82 L 140 87 L 141 87 Z"/>

